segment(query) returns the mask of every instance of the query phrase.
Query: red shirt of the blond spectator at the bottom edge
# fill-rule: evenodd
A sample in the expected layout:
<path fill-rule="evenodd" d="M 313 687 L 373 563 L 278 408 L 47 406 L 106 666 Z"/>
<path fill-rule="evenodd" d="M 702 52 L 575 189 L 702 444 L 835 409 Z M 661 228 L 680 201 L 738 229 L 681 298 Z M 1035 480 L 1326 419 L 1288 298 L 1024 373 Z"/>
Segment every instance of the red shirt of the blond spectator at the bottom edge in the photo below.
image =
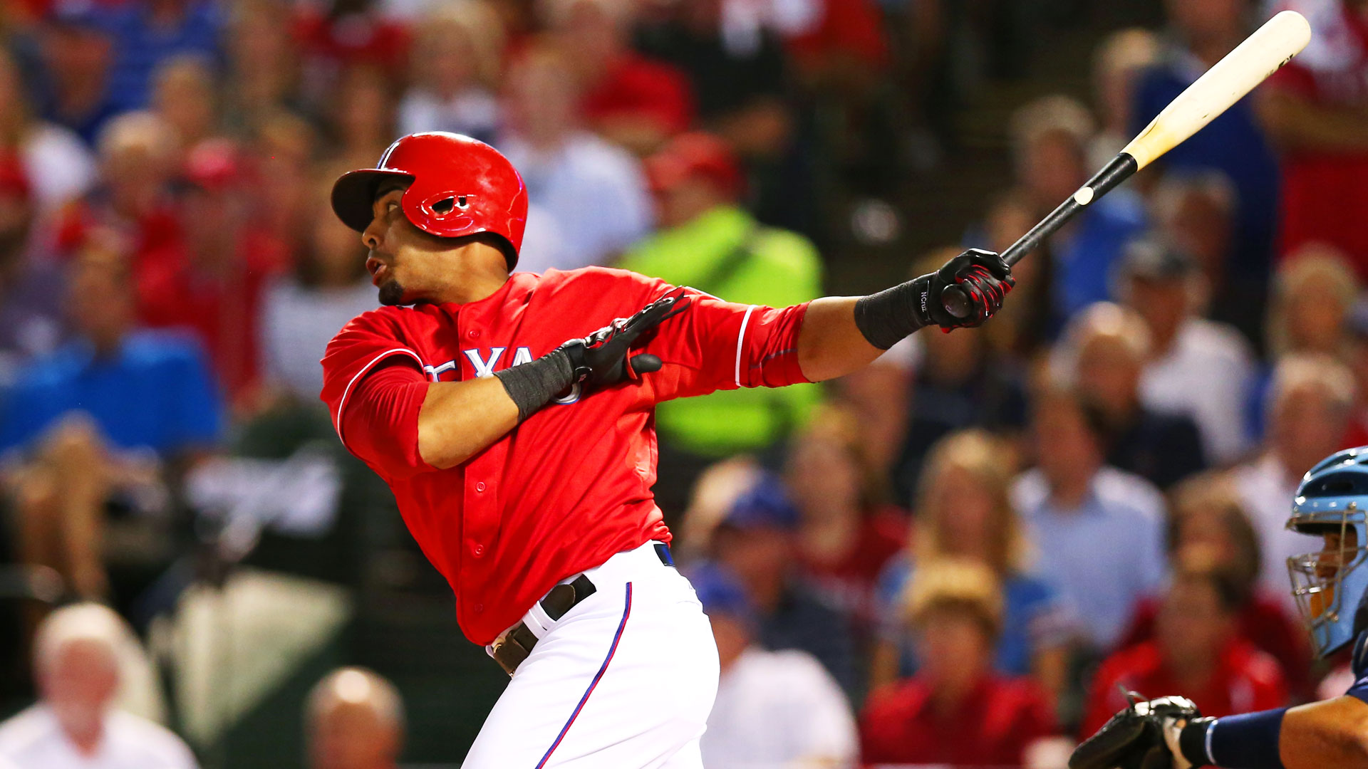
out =
<path fill-rule="evenodd" d="M 914 677 L 869 696 L 860 757 L 865 764 L 1021 766 L 1026 746 L 1053 728 L 1045 695 L 1029 679 L 985 677 L 958 707 L 938 710 L 930 686 Z"/>

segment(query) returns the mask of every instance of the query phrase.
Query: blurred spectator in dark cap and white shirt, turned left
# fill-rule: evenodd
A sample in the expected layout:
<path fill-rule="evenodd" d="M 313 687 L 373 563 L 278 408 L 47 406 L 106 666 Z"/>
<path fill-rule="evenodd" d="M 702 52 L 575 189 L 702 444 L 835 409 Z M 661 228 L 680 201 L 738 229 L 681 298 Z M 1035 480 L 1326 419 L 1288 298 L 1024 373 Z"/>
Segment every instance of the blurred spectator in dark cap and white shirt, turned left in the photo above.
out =
<path fill-rule="evenodd" d="M 1149 333 L 1141 405 L 1186 415 L 1200 427 L 1212 464 L 1234 464 L 1249 447 L 1249 345 L 1233 327 L 1200 316 L 1208 283 L 1187 252 L 1157 238 L 1135 241 L 1119 268 L 1120 297 Z"/>

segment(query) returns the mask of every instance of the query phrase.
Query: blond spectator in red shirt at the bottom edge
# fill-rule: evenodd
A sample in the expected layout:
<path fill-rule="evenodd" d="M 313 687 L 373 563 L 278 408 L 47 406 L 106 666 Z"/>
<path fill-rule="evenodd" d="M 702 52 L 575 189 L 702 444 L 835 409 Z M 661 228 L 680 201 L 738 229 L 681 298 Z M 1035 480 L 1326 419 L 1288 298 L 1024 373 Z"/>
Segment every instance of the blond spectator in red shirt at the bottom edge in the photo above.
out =
<path fill-rule="evenodd" d="M 903 617 L 925 664 L 870 695 L 860 714 L 865 762 L 1021 766 L 1027 747 L 1053 732 L 1045 695 L 1029 679 L 992 669 L 1001 603 L 982 564 L 923 565 Z"/>

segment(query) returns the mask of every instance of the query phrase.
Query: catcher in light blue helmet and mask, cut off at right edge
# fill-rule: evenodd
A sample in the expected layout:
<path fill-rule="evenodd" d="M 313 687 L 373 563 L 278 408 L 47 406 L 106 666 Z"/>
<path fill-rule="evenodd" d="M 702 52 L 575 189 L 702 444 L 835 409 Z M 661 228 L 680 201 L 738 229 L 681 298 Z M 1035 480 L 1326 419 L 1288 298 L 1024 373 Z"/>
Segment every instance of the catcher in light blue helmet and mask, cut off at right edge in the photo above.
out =
<path fill-rule="evenodd" d="M 1287 558 L 1293 595 L 1316 654 L 1353 643 L 1354 684 L 1342 696 L 1201 718 L 1182 696 L 1133 702 L 1078 746 L 1070 769 L 1368 768 L 1368 446 L 1331 454 L 1302 478 L 1287 527 L 1323 539 Z"/>

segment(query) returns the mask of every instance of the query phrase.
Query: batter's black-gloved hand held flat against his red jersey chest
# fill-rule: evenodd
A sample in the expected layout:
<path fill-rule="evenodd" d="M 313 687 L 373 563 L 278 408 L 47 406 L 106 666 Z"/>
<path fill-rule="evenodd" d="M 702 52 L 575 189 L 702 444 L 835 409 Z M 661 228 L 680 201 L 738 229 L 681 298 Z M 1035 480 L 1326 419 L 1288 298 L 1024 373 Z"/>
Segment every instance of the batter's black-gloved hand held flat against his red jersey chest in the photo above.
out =
<path fill-rule="evenodd" d="M 688 309 L 691 297 L 684 289 L 674 289 L 663 297 L 643 307 L 628 319 L 617 319 L 583 339 L 570 339 L 561 350 L 570 359 L 575 382 L 586 387 L 609 387 L 642 374 L 661 369 L 661 359 L 653 354 L 628 357 L 632 342 L 655 328 L 663 320 Z"/>

